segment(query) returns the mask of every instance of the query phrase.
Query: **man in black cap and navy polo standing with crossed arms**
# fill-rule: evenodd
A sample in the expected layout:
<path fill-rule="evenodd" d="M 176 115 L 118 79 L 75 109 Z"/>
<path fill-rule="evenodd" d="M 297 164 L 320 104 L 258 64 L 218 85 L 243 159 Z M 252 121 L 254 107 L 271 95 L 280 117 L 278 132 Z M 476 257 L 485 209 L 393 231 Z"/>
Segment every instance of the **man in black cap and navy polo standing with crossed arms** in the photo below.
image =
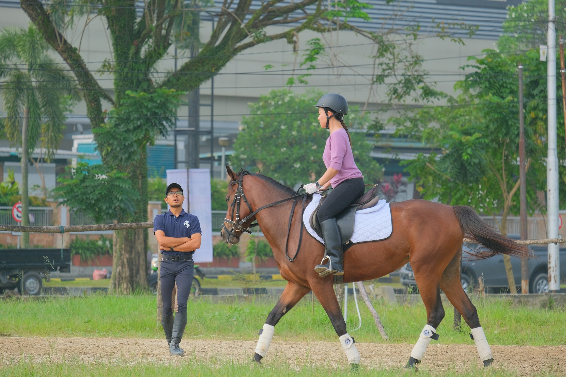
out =
<path fill-rule="evenodd" d="M 179 343 L 187 325 L 187 300 L 194 274 L 192 254 L 200 248 L 201 240 L 199 219 L 183 210 L 184 201 L 181 185 L 171 183 L 165 191 L 165 202 L 169 204 L 170 209 L 165 214 L 155 216 L 153 220 L 153 233 L 161 252 L 161 326 L 169 345 L 169 354 L 172 356 L 182 356 L 185 353 L 179 348 Z M 173 319 L 171 293 L 175 283 L 179 311 Z"/>

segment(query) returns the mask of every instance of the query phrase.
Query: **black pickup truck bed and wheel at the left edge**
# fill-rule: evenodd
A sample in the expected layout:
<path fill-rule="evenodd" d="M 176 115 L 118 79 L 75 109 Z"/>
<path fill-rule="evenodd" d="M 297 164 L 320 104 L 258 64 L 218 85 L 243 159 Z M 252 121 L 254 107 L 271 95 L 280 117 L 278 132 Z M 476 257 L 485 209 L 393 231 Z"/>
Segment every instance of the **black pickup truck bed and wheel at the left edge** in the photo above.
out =
<path fill-rule="evenodd" d="M 0 292 L 37 295 L 49 272 L 70 270 L 71 249 L 0 249 Z"/>

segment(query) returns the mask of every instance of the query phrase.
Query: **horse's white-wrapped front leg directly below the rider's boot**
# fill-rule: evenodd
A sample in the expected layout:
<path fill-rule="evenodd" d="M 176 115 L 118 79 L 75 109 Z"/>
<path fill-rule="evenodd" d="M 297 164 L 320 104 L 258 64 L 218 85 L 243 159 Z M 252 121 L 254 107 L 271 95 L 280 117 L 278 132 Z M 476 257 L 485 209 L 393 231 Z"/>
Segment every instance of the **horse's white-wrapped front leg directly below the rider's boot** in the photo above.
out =
<path fill-rule="evenodd" d="M 336 331 L 340 344 L 342 344 L 342 349 L 344 349 L 346 357 L 348 357 L 351 369 L 357 370 L 360 355 L 354 344 L 354 338 L 346 331 L 346 322 L 340 310 L 336 293 L 334 293 L 332 280 L 333 277 L 331 275 L 329 278 L 316 280 L 315 282 L 310 281 L 312 292 L 315 294 L 316 298 L 318 298 L 320 305 L 324 307 L 328 318 L 330 318 L 334 331 Z"/>

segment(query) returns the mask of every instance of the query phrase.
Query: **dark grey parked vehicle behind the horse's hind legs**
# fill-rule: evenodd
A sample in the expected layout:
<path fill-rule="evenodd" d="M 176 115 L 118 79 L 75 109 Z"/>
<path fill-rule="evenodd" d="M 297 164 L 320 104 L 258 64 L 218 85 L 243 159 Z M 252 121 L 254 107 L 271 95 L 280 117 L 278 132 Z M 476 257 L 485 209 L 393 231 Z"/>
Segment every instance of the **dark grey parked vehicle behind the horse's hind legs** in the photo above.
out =
<path fill-rule="evenodd" d="M 518 239 L 514 235 L 509 237 Z M 471 292 L 477 286 L 480 276 L 483 278 L 484 287 L 489 291 L 499 292 L 509 289 L 503 255 L 496 254 L 486 259 L 470 260 L 470 255 L 466 251 L 474 254 L 487 249 L 482 245 L 471 243 L 465 243 L 462 245 L 462 249 L 461 283 L 464 291 Z M 546 245 L 532 245 L 529 246 L 529 249 L 534 254 L 534 257 L 529 258 L 528 261 L 529 293 L 546 293 L 548 292 L 548 248 Z M 513 266 L 515 284 L 519 285 L 517 290 L 520 291 L 521 259 L 511 257 L 511 265 Z M 562 278 L 564 278 L 564 274 L 566 274 L 566 248 L 560 248 L 560 271 L 562 272 Z M 401 267 L 399 273 L 401 284 L 416 291 L 417 283 L 415 282 L 413 268 L 411 268 L 410 263 Z"/>

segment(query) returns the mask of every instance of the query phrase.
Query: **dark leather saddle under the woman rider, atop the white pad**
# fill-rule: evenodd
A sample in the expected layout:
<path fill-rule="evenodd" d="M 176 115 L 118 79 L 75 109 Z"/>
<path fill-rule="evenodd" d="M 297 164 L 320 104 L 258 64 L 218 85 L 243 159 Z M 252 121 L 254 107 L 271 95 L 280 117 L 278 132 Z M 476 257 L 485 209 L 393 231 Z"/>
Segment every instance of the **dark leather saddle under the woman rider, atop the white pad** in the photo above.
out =
<path fill-rule="evenodd" d="M 351 236 L 354 233 L 354 219 L 355 219 L 356 211 L 375 206 L 379 202 L 378 190 L 379 190 L 379 185 L 374 185 L 374 187 L 372 187 L 368 192 L 366 192 L 361 197 L 359 197 L 358 200 L 351 203 L 351 205 L 349 205 L 339 214 L 336 215 L 336 224 L 338 225 L 338 229 L 340 229 L 342 245 L 346 245 L 347 246 L 346 248 L 351 246 L 349 245 L 349 242 Z M 322 237 L 322 233 L 320 232 L 320 224 L 318 219 L 316 218 L 316 214 L 318 213 L 320 205 L 324 202 L 325 199 L 326 199 L 325 196 L 320 198 L 319 205 L 315 208 L 314 211 L 312 211 L 310 217 L 311 228 L 314 229 L 314 231 L 316 232 L 316 234 L 320 236 L 320 238 L 323 237 Z"/>

